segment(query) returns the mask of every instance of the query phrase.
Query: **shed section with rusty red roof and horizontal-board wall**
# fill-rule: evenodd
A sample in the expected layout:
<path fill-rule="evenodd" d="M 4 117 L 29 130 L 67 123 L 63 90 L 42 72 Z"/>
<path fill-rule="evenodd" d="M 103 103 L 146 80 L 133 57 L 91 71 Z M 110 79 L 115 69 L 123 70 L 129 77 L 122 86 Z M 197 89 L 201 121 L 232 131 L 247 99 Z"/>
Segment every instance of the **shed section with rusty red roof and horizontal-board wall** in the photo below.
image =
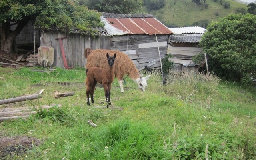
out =
<path fill-rule="evenodd" d="M 128 54 L 137 68 L 160 67 L 167 54 L 167 40 L 172 32 L 150 14 L 103 13 L 102 21 L 109 38 L 110 50 Z M 159 49 L 159 52 L 158 52 Z"/>

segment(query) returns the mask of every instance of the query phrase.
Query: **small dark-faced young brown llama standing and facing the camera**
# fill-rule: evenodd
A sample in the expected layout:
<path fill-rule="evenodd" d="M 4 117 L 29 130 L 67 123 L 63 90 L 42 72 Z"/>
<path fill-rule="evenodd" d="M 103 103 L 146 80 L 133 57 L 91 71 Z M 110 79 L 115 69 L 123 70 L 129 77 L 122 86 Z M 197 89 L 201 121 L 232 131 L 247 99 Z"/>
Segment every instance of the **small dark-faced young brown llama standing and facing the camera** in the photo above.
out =
<path fill-rule="evenodd" d="M 87 98 L 87 104 L 90 106 L 89 101 L 89 94 L 91 95 L 91 101 L 94 103 L 93 94 L 95 90 L 95 86 L 97 82 L 100 84 L 103 84 L 103 88 L 105 91 L 105 97 L 107 102 L 107 108 L 110 105 L 110 90 L 111 90 L 111 83 L 114 81 L 114 61 L 116 58 L 116 54 L 114 56 L 109 56 L 108 53 L 106 54 L 108 61 L 108 68 L 109 69 L 102 69 L 98 67 L 91 67 L 89 69 L 86 69 L 86 98 Z"/>

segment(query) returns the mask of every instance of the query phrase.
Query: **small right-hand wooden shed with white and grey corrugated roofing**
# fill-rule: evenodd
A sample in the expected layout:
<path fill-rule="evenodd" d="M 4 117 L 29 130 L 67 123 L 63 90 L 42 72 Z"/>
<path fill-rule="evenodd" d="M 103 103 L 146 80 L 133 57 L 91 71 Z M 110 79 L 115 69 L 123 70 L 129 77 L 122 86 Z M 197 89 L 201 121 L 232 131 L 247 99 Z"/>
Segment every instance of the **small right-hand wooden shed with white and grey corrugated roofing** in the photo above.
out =
<path fill-rule="evenodd" d="M 198 44 L 206 29 L 198 26 L 169 29 L 174 34 L 168 38 L 167 53 L 172 55 L 169 60 L 174 61 L 174 70 L 194 70 L 198 64 L 194 64 L 192 57 L 202 51 Z"/>

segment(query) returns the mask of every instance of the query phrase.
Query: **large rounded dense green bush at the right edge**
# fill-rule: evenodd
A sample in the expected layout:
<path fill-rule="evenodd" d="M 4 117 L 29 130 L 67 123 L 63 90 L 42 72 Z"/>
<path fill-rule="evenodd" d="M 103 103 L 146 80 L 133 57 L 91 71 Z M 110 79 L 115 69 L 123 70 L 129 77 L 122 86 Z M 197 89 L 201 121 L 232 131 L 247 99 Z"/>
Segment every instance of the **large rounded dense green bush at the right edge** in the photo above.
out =
<path fill-rule="evenodd" d="M 256 16 L 229 14 L 210 23 L 199 45 L 222 78 L 244 83 L 256 78 Z"/>

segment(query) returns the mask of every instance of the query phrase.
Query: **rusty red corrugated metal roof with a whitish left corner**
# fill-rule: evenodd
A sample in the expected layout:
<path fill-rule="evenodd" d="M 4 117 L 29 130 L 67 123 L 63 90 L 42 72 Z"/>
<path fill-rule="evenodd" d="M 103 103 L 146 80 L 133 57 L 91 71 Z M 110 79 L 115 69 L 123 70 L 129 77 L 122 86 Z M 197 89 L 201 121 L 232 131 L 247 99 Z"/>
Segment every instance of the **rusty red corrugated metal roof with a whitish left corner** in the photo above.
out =
<path fill-rule="evenodd" d="M 172 32 L 150 14 L 103 13 L 103 22 L 108 33 L 121 34 L 171 34 Z M 113 28 L 114 27 L 114 28 Z M 118 31 L 113 32 L 116 29 Z M 120 32 L 121 31 L 121 32 Z"/>

